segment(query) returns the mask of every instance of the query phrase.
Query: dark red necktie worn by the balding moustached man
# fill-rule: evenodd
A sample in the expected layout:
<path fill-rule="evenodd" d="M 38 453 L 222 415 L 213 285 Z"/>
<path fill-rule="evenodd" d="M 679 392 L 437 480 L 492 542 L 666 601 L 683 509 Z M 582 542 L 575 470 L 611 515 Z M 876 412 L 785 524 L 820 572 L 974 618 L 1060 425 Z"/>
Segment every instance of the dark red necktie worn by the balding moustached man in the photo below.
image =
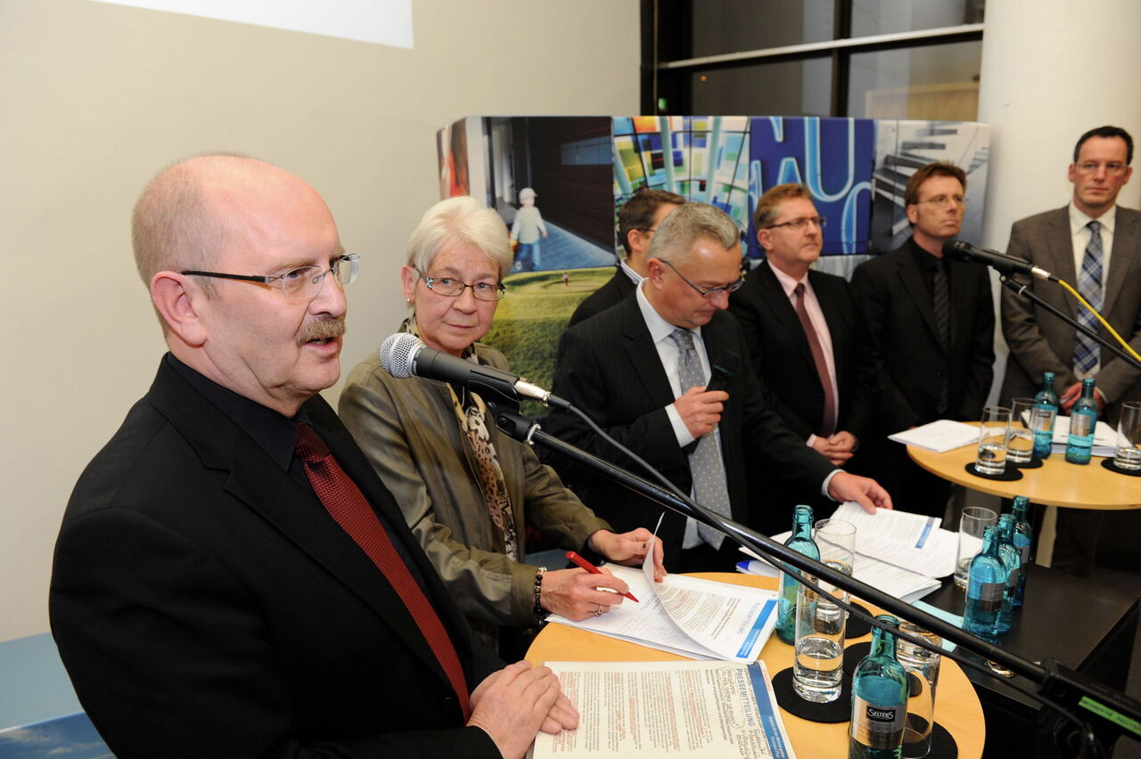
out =
<path fill-rule="evenodd" d="M 460 697 L 463 719 L 467 721 L 471 716 L 468 683 L 463 677 L 463 668 L 460 666 L 460 658 L 455 653 L 452 638 L 444 629 L 444 623 L 439 621 L 436 610 L 396 552 L 364 493 L 349 475 L 345 474 L 345 470 L 333 458 L 325 442 L 308 424 L 297 423 L 297 455 L 305 464 L 305 472 L 317 498 L 400 596 L 412 619 L 420 627 L 420 632 L 431 646 L 436 661 L 444 668 L 455 695 Z"/>

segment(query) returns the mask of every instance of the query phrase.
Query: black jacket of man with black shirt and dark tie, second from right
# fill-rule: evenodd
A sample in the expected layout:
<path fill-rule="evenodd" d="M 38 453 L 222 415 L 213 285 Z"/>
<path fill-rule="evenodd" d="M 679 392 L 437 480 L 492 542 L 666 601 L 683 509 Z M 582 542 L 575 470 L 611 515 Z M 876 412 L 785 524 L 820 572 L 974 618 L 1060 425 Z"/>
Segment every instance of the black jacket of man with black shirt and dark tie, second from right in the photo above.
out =
<path fill-rule="evenodd" d="M 915 261 L 914 240 L 865 261 L 851 288 L 860 320 L 859 350 L 877 378 L 880 432 L 890 434 L 939 418 L 939 390 L 948 377 L 944 416 L 976 421 L 994 378 L 994 300 L 985 267 L 946 261 L 950 286 L 950 346 L 934 324 L 930 286 Z M 926 255 L 926 253 L 924 253 Z"/>

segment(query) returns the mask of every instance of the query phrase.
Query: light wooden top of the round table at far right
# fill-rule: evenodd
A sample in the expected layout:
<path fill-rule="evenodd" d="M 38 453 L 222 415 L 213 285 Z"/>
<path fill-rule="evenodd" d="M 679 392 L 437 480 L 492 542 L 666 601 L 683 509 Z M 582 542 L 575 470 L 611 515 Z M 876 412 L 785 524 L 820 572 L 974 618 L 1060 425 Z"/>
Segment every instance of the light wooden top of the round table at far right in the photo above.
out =
<path fill-rule="evenodd" d="M 1063 508 L 1141 508 L 1141 478 L 1110 472 L 1094 457 L 1089 464 L 1070 464 L 1061 454 L 1052 454 L 1037 470 L 1020 470 L 1022 479 L 1013 482 L 987 480 L 966 471 L 974 460 L 972 443 L 937 454 L 925 448 L 907 447 L 907 455 L 928 472 L 971 490 L 1003 498 L 1026 496 L 1031 504 Z"/>

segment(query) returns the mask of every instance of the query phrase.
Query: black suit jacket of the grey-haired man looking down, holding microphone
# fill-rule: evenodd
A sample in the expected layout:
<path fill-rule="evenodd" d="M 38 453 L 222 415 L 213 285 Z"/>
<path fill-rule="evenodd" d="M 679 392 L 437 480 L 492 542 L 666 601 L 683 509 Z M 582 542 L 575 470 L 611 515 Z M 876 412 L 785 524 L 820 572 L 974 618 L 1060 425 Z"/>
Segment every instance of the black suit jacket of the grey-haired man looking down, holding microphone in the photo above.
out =
<path fill-rule="evenodd" d="M 744 337 L 737 320 L 719 311 L 702 327 L 702 338 L 711 364 L 733 372 L 725 386 L 729 400 L 719 431 L 734 520 L 748 524 L 767 516 L 766 492 L 748 487 L 748 470 L 791 480 L 808 497 L 818 496 L 824 478 L 835 467 L 806 447 L 772 410 L 771 393 L 744 358 Z M 673 390 L 637 297 L 628 297 L 563 334 L 553 392 L 689 492 L 688 451 L 678 444 L 665 411 L 674 400 Z M 548 427 L 556 436 L 641 474 L 576 416 L 553 413 Z M 675 564 L 685 537 L 685 517 L 597 473 L 574 468 L 569 479 L 583 501 L 618 532 L 638 527 L 653 529 L 665 511 L 658 536 L 665 544 L 666 565 Z M 779 521 L 785 522 L 787 519 Z"/>

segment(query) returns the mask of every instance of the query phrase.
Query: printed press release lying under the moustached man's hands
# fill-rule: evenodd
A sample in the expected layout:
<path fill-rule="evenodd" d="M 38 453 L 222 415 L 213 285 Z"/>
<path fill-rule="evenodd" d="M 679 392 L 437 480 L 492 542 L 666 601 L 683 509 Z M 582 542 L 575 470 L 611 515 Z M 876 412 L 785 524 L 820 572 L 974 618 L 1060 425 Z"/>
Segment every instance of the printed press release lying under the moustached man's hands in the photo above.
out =
<path fill-rule="evenodd" d="M 580 720 L 573 731 L 540 733 L 529 754 L 534 759 L 795 759 L 764 662 L 549 661 L 547 666 L 558 675 Z"/>

